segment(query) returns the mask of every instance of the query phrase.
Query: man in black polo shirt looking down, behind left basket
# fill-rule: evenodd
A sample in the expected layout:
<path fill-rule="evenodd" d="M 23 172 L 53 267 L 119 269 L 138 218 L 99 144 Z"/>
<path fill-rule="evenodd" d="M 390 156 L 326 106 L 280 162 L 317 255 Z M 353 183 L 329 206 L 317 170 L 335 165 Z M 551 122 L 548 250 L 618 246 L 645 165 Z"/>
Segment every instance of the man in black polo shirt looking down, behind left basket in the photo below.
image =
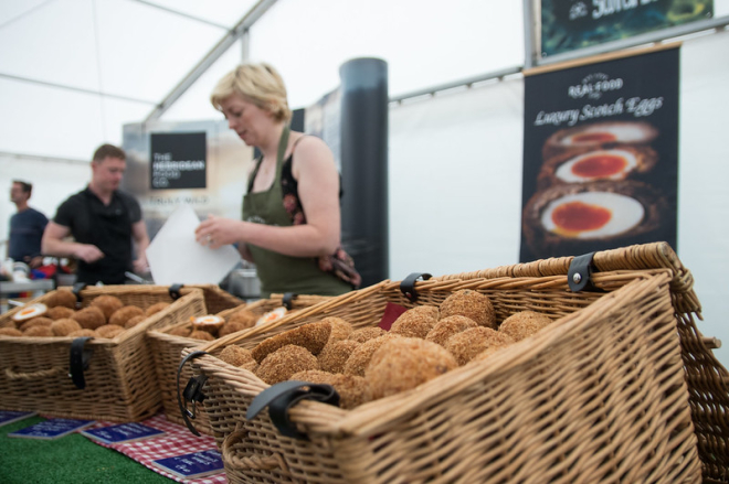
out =
<path fill-rule="evenodd" d="M 43 254 L 78 259 L 76 281 L 123 284 L 125 272 L 146 272 L 149 246 L 139 203 L 119 190 L 126 154 L 103 144 L 92 160 L 92 180 L 85 190 L 59 207 L 43 234 Z M 75 241 L 64 240 L 72 235 Z M 137 258 L 133 260 L 133 244 Z"/>

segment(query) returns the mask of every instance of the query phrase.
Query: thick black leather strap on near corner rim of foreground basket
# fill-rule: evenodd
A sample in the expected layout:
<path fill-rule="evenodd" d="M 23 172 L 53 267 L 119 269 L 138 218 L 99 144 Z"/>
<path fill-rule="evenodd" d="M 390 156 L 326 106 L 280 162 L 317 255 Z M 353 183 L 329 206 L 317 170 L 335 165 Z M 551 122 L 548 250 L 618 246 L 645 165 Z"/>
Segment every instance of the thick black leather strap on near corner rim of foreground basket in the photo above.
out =
<path fill-rule="evenodd" d="M 271 421 L 282 435 L 308 440 L 288 418 L 288 409 L 300 400 L 317 400 L 339 406 L 339 394 L 331 385 L 317 385 L 308 381 L 288 380 L 273 385 L 260 392 L 251 402 L 245 418 L 252 420 L 261 410 L 268 407 Z"/>

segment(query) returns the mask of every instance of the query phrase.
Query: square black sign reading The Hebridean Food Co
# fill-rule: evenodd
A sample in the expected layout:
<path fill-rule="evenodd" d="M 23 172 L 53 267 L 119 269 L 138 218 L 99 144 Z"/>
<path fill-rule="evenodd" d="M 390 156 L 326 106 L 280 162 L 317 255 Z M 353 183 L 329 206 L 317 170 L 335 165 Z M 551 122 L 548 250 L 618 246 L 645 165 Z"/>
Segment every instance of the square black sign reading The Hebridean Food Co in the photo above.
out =
<path fill-rule="evenodd" d="M 151 133 L 151 190 L 207 186 L 205 132 Z"/>

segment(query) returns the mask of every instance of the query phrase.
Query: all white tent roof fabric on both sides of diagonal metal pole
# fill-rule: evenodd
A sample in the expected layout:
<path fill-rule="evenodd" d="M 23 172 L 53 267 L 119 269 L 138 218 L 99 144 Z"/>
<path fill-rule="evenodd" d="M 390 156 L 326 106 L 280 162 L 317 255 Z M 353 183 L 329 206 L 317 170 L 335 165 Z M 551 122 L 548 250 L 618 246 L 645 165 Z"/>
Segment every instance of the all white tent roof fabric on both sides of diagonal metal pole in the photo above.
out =
<path fill-rule="evenodd" d="M 0 153 L 86 160 L 120 143 L 122 126 L 145 120 L 256 3 L 0 1 Z M 524 63 L 521 2 L 271 3 L 251 29 L 250 58 L 282 72 L 295 108 L 335 88 L 358 56 L 388 61 L 395 94 Z M 162 119 L 215 118 L 209 93 L 242 56 L 237 42 Z"/>

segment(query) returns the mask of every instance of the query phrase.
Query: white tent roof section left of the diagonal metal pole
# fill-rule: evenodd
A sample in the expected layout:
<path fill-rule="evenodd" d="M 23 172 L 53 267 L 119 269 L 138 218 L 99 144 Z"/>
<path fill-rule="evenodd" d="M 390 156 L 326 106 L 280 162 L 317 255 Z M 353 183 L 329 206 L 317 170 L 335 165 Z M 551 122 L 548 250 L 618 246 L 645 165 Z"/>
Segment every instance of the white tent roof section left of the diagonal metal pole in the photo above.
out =
<path fill-rule="evenodd" d="M 120 143 L 122 126 L 144 120 L 254 3 L 0 2 L 0 152 L 86 160 Z"/>

